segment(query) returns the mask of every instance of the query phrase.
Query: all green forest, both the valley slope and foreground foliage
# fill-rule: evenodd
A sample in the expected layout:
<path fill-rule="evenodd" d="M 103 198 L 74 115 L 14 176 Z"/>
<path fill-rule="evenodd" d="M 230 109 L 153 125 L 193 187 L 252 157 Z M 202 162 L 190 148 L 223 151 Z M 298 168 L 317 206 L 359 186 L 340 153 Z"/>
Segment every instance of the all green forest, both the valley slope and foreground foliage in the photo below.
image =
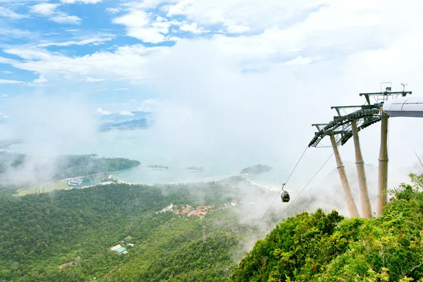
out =
<path fill-rule="evenodd" d="M 423 281 L 423 176 L 411 180 L 379 218 L 291 214 L 262 240 L 229 207 L 242 178 L 2 197 L 0 281 Z M 159 212 L 171 203 L 227 208 Z"/>

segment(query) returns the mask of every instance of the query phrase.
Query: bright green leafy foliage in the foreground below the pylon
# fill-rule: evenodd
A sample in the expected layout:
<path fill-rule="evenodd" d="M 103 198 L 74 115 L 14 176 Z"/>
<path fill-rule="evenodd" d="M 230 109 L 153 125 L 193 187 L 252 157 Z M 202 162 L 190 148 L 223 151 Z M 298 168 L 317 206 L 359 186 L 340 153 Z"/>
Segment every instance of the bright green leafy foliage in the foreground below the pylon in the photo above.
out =
<path fill-rule="evenodd" d="M 283 221 L 229 281 L 423 281 L 423 176 L 410 176 L 380 218 L 317 210 Z"/>

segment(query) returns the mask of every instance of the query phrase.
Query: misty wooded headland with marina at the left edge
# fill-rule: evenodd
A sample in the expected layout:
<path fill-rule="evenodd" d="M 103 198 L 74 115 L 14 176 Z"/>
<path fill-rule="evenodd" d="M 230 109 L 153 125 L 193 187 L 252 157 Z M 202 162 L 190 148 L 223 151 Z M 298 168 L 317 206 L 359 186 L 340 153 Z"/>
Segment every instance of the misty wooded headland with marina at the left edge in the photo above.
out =
<path fill-rule="evenodd" d="M 97 154 L 49 157 L 0 151 L 0 188 L 31 188 L 32 191 L 37 186 L 42 192 L 57 188 L 80 188 L 107 180 L 108 173 L 113 171 L 138 165 L 140 161 L 99 158 Z"/>

